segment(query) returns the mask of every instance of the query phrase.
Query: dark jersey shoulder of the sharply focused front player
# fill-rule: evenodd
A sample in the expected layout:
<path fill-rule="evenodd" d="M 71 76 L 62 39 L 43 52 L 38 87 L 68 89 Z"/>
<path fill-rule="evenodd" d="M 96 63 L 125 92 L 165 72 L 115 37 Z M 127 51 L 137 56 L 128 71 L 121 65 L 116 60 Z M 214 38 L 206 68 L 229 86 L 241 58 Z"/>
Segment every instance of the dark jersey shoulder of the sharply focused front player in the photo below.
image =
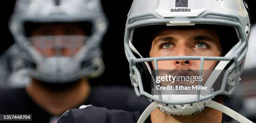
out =
<path fill-rule="evenodd" d="M 82 105 L 77 109 L 68 110 L 58 120 L 58 123 L 135 123 L 140 112 L 123 110 L 108 110 L 92 105 Z"/>

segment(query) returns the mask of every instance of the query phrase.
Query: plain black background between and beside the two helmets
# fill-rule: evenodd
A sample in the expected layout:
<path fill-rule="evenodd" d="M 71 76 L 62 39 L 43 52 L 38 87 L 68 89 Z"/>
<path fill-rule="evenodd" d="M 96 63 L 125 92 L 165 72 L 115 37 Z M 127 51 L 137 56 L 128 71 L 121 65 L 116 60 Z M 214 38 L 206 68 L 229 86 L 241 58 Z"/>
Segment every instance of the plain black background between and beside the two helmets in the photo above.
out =
<path fill-rule="evenodd" d="M 109 20 L 109 28 L 102 42 L 105 72 L 97 79 L 90 80 L 92 85 L 131 85 L 128 61 L 123 48 L 123 36 L 128 11 L 133 0 L 109 1 L 101 0 L 105 14 Z M 256 22 L 254 0 L 246 0 L 252 25 Z M 1 8 L 1 41 L 0 54 L 13 44 L 13 37 L 8 29 L 8 21 L 13 12 L 15 0 L 4 1 Z"/>

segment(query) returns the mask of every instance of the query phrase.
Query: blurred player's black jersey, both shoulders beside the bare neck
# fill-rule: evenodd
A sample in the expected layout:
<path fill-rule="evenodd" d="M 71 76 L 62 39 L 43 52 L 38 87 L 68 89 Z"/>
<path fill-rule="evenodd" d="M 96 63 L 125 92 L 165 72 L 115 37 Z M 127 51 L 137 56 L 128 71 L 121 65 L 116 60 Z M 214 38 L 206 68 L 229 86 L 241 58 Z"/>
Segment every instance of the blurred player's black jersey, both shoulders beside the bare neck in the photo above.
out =
<path fill-rule="evenodd" d="M 32 114 L 32 121 L 0 121 L 0 123 L 56 123 L 59 118 L 37 105 L 28 96 L 25 88 L 0 89 L 0 100 L 0 114 Z M 74 108 L 92 104 L 107 109 L 143 111 L 149 103 L 146 98 L 136 97 L 133 88 L 92 87 L 87 100 Z"/>

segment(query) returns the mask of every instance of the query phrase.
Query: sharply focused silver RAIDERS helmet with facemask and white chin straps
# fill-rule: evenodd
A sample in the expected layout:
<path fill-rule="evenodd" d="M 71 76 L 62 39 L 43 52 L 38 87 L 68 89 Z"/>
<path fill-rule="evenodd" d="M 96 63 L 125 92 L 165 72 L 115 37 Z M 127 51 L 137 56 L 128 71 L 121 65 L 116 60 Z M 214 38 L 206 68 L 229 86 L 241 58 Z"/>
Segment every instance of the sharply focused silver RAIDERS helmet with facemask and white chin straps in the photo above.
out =
<path fill-rule="evenodd" d="M 218 27 L 216 29 L 221 31 L 219 35 L 222 35 L 220 43 L 224 55 L 148 57 L 151 48 L 148 37 L 153 34 L 152 31 L 192 26 Z M 156 107 L 168 114 L 184 116 L 199 113 L 205 106 L 227 113 L 240 122 L 248 122 L 248 119 L 238 113 L 228 112 L 229 108 L 212 101 L 212 98 L 216 95 L 230 96 L 239 84 L 248 49 L 250 26 L 248 7 L 243 0 L 133 0 L 124 35 L 131 84 L 137 96 L 144 95 L 154 100 L 143 112 L 138 123 L 142 123 Z M 218 61 L 218 64 L 203 85 L 209 87 L 208 90 L 198 90 L 190 95 L 162 95 L 160 90 L 154 92 L 154 71 L 158 70 L 158 61 L 162 60 L 200 60 L 200 73 L 203 73 L 206 60 Z M 151 62 L 154 62 L 154 70 Z M 217 80 L 220 76 L 221 80 Z M 220 87 L 212 88 L 217 81 Z"/>

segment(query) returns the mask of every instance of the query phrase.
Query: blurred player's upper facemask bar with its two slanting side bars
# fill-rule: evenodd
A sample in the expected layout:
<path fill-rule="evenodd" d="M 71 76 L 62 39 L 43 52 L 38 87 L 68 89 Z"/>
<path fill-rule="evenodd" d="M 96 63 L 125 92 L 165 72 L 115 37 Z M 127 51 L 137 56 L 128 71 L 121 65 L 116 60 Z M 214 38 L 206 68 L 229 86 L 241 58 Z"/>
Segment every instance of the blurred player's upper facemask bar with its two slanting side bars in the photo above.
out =
<path fill-rule="evenodd" d="M 85 15 L 86 16 L 86 15 Z M 93 15 L 87 15 L 88 17 L 92 17 Z M 24 30 L 24 22 L 25 21 L 31 21 L 35 23 L 46 23 L 46 22 L 79 22 L 79 21 L 88 21 L 92 23 L 92 34 L 91 36 L 87 39 L 87 44 L 84 45 L 74 56 L 75 59 L 78 61 L 83 61 L 85 56 L 88 57 L 93 57 L 90 56 L 91 50 L 98 49 L 99 44 L 102 40 L 103 35 L 106 32 L 106 29 L 108 27 L 108 23 L 106 22 L 106 18 L 104 16 L 100 17 L 93 17 L 93 18 L 98 18 L 95 20 L 92 20 L 92 18 L 84 18 L 84 17 L 43 17 L 43 18 L 23 18 L 19 17 L 18 15 L 14 15 L 11 18 L 10 21 L 10 30 L 11 33 L 13 34 L 13 37 L 15 40 L 18 41 L 18 45 L 21 46 L 24 50 L 28 52 L 29 55 L 31 55 L 31 58 L 33 59 L 33 62 L 35 63 L 40 63 L 41 60 L 43 60 L 43 57 L 41 56 L 38 51 L 31 47 L 31 43 L 28 40 L 28 38 L 23 34 L 25 32 Z M 87 54 L 87 55 L 85 55 Z"/>

